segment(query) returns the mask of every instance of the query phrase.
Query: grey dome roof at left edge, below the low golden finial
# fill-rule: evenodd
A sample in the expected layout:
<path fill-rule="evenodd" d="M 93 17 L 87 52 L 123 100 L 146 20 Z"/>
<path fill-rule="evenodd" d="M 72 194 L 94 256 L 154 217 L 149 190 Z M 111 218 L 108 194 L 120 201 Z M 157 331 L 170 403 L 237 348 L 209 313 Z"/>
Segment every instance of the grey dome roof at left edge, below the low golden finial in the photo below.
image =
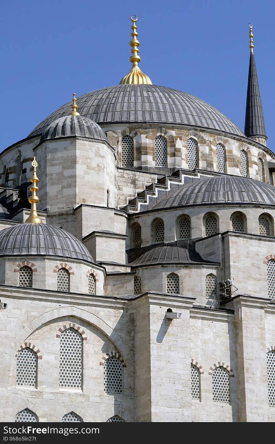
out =
<path fill-rule="evenodd" d="M 0 230 L 0 256 L 60 256 L 94 263 L 72 234 L 46 224 L 24 223 Z"/>

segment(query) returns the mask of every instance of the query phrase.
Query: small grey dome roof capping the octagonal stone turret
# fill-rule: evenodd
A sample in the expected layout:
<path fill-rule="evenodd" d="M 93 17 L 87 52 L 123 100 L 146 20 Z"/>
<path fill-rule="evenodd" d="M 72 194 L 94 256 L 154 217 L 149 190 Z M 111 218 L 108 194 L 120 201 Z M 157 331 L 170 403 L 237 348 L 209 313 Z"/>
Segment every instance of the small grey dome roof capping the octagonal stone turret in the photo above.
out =
<path fill-rule="evenodd" d="M 43 130 L 40 143 L 46 139 L 73 136 L 107 140 L 104 131 L 97 123 L 81 115 L 66 115 L 54 120 Z"/>

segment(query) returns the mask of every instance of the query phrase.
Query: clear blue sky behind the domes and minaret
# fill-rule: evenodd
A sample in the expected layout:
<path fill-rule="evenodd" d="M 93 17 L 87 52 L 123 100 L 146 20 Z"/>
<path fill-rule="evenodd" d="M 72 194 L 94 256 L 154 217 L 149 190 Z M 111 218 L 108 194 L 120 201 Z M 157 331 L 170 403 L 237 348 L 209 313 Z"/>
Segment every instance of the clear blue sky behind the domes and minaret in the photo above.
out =
<path fill-rule="evenodd" d="M 275 149 L 274 1 L 0 1 L 0 151 L 63 103 L 118 84 L 130 70 L 130 16 L 140 67 L 152 82 L 196 95 L 244 130 L 248 22 L 266 123 Z"/>

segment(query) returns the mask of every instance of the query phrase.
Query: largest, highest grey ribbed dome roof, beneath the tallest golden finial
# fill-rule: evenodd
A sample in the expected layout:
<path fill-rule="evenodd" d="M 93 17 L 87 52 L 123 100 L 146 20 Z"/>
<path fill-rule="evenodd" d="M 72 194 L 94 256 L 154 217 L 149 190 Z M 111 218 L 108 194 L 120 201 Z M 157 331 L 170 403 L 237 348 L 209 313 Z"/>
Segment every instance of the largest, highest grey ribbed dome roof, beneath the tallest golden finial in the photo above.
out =
<path fill-rule="evenodd" d="M 244 133 L 223 113 L 186 92 L 157 85 L 115 85 L 88 92 L 77 99 L 81 115 L 99 124 L 116 122 L 177 123 Z M 42 133 L 55 119 L 71 112 L 71 102 L 39 123 L 29 136 Z"/>

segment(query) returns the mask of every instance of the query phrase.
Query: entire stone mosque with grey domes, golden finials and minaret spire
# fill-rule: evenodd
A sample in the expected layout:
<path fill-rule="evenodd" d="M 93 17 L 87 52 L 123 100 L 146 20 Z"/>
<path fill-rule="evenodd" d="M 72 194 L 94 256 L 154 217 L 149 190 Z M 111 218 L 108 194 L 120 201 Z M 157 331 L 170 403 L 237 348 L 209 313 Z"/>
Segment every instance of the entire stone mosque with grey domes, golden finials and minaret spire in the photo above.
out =
<path fill-rule="evenodd" d="M 275 421 L 275 155 L 132 63 L 0 154 L 0 417 Z M 39 182 L 39 187 L 38 187 Z"/>

